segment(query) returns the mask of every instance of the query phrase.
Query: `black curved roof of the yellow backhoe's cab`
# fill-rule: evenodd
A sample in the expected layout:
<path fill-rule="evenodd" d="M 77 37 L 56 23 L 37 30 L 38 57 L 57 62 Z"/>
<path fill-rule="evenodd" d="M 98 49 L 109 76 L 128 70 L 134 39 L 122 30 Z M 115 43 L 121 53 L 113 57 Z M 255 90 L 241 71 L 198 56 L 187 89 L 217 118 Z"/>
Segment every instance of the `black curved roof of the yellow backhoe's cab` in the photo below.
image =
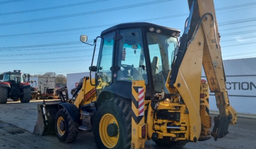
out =
<path fill-rule="evenodd" d="M 147 22 L 132 22 L 132 23 L 122 23 L 122 24 L 118 24 L 113 27 L 107 28 L 106 30 L 101 32 L 101 35 L 114 30 L 118 30 L 118 29 L 126 29 L 126 28 L 128 29 L 128 28 L 138 28 L 138 27 L 145 27 L 145 28 L 154 27 L 155 30 L 160 29 L 163 31 L 168 30 L 168 31 L 175 31 L 176 33 L 180 33 L 180 30 L 175 28 L 159 26 L 159 25 L 147 23 Z"/>

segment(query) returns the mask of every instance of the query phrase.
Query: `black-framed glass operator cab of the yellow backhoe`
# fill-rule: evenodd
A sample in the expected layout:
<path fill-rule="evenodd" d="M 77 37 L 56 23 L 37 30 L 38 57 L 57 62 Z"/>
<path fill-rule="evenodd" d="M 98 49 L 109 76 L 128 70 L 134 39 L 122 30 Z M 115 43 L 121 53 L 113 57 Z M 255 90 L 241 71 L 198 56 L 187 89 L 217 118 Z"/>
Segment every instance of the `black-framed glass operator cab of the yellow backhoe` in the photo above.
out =
<path fill-rule="evenodd" d="M 150 95 L 167 91 L 165 82 L 179 35 L 180 30 L 144 22 L 104 30 L 96 68 L 97 89 L 118 90 L 122 97 L 127 92 L 128 98 L 132 80 L 144 80 Z"/>

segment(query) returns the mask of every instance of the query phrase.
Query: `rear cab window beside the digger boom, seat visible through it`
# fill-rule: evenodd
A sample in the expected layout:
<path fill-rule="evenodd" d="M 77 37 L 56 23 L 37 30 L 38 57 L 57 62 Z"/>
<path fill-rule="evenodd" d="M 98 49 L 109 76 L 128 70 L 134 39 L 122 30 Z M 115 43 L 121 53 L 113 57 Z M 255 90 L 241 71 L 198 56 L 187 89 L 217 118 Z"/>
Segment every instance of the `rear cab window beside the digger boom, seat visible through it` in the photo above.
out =
<path fill-rule="evenodd" d="M 177 48 L 177 38 L 171 35 L 147 33 L 151 72 L 155 91 L 167 91 L 166 79 L 173 60 L 173 53 Z"/>

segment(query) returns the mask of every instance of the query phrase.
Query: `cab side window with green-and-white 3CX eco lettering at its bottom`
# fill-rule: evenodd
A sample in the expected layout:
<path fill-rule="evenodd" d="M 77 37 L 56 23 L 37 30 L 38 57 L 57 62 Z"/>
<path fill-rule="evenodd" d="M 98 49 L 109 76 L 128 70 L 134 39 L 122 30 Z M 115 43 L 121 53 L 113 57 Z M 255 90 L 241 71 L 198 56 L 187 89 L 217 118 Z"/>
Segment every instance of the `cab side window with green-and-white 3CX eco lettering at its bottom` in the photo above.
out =
<path fill-rule="evenodd" d="M 141 29 L 121 30 L 119 40 L 117 81 L 144 80 L 148 84 L 147 67 Z"/>

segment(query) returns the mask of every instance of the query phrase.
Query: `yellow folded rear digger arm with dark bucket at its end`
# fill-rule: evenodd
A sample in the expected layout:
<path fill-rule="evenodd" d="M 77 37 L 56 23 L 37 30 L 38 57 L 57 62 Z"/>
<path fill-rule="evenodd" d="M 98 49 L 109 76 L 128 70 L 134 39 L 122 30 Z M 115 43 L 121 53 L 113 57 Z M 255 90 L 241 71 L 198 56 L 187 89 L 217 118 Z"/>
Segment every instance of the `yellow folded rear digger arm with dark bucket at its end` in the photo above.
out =
<path fill-rule="evenodd" d="M 176 50 L 166 88 L 170 93 L 176 89 L 183 98 L 189 112 L 190 140 L 195 140 L 201 131 L 198 98 L 203 65 L 210 91 L 215 93 L 219 109 L 211 132 L 217 140 L 228 133 L 229 124 L 236 123 L 237 114 L 230 106 L 226 90 L 215 8 L 213 0 L 188 0 L 188 3 L 190 15 Z"/>

